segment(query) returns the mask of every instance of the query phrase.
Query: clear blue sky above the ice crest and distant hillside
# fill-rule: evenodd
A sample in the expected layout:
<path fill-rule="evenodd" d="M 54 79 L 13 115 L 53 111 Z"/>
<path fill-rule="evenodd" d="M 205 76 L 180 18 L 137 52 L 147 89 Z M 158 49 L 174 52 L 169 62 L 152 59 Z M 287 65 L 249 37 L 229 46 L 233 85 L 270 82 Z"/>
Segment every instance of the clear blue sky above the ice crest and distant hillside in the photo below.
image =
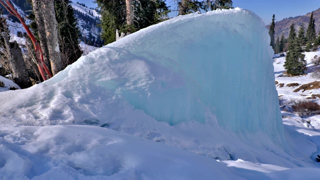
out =
<path fill-rule="evenodd" d="M 95 7 L 93 0 L 72 0 L 84 3 L 88 7 Z M 171 8 L 176 8 L 173 0 L 166 0 Z M 265 24 L 269 24 L 272 14 L 275 20 L 282 20 L 285 17 L 304 15 L 320 7 L 320 0 L 232 0 L 234 7 L 249 9 L 256 13 Z M 172 12 L 170 16 L 175 16 Z"/>

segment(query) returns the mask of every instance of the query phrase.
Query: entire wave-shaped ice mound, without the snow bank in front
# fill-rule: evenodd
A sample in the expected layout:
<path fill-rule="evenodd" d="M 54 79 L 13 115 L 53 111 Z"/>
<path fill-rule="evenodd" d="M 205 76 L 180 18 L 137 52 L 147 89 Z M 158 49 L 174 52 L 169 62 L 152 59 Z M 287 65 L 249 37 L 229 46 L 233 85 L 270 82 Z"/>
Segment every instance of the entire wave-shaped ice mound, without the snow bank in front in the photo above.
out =
<path fill-rule="evenodd" d="M 80 57 L 23 95 L 4 92 L 0 119 L 106 126 L 197 121 L 280 142 L 272 54 L 267 29 L 251 11 L 179 16 Z"/>

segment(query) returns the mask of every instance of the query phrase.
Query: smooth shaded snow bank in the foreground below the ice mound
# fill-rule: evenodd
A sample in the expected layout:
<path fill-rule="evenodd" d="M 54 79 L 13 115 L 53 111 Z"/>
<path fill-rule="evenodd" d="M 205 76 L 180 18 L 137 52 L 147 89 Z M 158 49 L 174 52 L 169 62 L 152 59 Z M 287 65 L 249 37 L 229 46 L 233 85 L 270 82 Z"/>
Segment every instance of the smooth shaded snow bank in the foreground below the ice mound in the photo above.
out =
<path fill-rule="evenodd" d="M 227 167 L 209 157 L 100 127 L 55 125 L 0 130 L 3 180 L 237 177 L 225 174 Z"/>

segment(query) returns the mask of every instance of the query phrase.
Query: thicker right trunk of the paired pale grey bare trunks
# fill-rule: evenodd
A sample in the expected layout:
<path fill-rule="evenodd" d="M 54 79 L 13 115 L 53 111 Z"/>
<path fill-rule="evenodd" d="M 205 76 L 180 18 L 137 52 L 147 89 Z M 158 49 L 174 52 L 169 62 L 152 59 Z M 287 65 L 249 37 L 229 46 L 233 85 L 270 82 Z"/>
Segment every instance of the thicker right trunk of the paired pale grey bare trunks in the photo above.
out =
<path fill-rule="evenodd" d="M 62 70 L 62 64 L 53 0 L 32 0 L 32 5 L 39 7 L 39 11 L 34 10 L 34 14 L 38 13 L 39 16 L 42 15 L 43 17 L 51 70 L 54 75 Z M 39 21 L 39 19 L 36 21 Z"/>

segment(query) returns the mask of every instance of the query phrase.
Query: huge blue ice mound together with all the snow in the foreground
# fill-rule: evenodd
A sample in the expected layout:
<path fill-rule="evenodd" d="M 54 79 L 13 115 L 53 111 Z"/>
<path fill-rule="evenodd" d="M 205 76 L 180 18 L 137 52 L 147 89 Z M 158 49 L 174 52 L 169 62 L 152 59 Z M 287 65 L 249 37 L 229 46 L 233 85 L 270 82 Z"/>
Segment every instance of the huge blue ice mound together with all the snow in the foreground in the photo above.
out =
<path fill-rule="evenodd" d="M 1 92 L 1 178 L 318 177 L 318 132 L 282 123 L 272 55 L 251 11 L 193 13 Z"/>

